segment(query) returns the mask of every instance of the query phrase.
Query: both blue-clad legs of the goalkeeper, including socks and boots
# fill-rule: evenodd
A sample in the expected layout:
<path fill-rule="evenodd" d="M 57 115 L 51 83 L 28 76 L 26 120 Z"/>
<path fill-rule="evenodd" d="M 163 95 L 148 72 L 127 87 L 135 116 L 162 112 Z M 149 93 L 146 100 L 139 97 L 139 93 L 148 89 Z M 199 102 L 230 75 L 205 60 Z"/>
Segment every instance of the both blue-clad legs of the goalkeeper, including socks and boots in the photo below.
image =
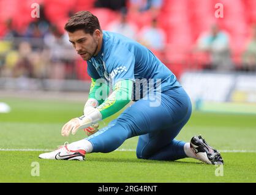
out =
<path fill-rule="evenodd" d="M 141 99 L 99 132 L 56 151 L 40 154 L 39 157 L 84 160 L 85 153 L 111 152 L 128 138 L 141 135 L 137 147 L 138 158 L 177 160 L 192 157 L 208 164 L 223 163 L 219 152 L 201 137 L 193 137 L 186 144 L 174 140 L 191 114 L 190 99 L 183 88 L 165 91 L 157 101 L 158 106 L 152 107 L 149 100 Z"/>

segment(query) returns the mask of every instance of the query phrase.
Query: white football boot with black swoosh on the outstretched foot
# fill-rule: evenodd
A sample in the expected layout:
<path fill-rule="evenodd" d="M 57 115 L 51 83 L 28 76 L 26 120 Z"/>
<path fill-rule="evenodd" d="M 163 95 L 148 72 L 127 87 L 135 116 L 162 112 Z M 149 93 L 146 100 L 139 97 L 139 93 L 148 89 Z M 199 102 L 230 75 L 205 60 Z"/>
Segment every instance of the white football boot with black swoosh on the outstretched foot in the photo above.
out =
<path fill-rule="evenodd" d="M 59 149 L 53 152 L 47 152 L 39 155 L 39 158 L 53 159 L 53 160 L 85 160 L 85 150 L 79 149 L 72 151 L 67 148 L 67 142 L 63 146 L 59 146 Z"/>

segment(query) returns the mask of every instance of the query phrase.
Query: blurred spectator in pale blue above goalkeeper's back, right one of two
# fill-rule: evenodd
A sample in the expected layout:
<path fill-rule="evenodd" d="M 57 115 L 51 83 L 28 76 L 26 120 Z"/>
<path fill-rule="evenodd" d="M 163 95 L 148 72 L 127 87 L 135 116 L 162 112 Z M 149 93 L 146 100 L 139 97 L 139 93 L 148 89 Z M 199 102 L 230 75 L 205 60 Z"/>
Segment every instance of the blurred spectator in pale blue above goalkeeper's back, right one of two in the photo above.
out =
<path fill-rule="evenodd" d="M 143 27 L 138 34 L 138 42 L 156 52 L 163 51 L 165 39 L 164 30 L 157 27 L 157 19 L 152 19 L 151 26 Z"/>

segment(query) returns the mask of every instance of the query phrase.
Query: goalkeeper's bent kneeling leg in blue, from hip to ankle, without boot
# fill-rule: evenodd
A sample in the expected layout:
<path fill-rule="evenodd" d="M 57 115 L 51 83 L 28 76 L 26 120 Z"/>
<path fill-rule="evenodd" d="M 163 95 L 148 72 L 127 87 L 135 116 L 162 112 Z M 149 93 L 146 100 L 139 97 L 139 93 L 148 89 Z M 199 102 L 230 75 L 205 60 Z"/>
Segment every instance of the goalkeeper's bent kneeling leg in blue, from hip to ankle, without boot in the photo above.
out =
<path fill-rule="evenodd" d="M 168 126 L 162 126 L 146 135 L 141 135 L 138 140 L 137 157 L 151 160 L 177 160 L 186 158 L 184 141 L 175 140 L 180 130 L 190 118 L 192 106 L 190 99 L 183 88 L 167 92 L 168 106 L 172 121 Z M 176 97 L 176 98 L 171 98 Z M 179 98 L 178 98 L 179 97 Z M 160 113 L 159 113 L 160 115 Z"/>

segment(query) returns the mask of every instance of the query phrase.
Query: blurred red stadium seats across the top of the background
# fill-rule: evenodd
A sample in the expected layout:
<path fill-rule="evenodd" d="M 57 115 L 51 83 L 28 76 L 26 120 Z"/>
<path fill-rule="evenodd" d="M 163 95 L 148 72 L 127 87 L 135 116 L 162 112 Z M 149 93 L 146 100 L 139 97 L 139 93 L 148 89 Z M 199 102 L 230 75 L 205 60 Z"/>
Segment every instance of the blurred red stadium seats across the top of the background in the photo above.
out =
<path fill-rule="evenodd" d="M 90 10 L 99 18 L 102 29 L 117 19 L 120 14 L 108 9 L 94 8 L 96 0 L 1 0 L 0 1 L 0 36 L 4 35 L 6 27 L 4 22 L 8 18 L 13 18 L 15 28 L 24 32 L 31 18 L 31 4 L 37 2 L 45 5 L 45 14 L 48 19 L 56 24 L 62 32 L 63 26 L 69 18 L 69 12 L 79 10 Z M 230 35 L 232 58 L 236 64 L 241 63 L 241 54 L 244 45 L 249 37 L 249 30 L 252 24 L 256 23 L 256 1 L 255 0 L 164 0 L 164 5 L 158 16 L 159 26 L 167 34 L 167 47 L 165 49 L 164 62 L 173 65 L 178 71 L 182 71 L 186 65 L 184 63 L 206 62 L 206 55 L 195 57 L 191 49 L 198 36 L 209 30 L 213 23 L 219 24 Z M 217 3 L 224 5 L 224 18 L 216 18 L 214 13 Z M 29 13 L 29 14 L 28 14 Z M 129 21 L 137 24 L 138 29 L 148 26 L 152 16 L 150 12 L 134 13 L 128 12 Z M 199 60 L 198 60 L 199 59 Z M 183 68 L 177 68 L 184 66 Z M 200 66 L 197 66 L 200 68 Z"/>

